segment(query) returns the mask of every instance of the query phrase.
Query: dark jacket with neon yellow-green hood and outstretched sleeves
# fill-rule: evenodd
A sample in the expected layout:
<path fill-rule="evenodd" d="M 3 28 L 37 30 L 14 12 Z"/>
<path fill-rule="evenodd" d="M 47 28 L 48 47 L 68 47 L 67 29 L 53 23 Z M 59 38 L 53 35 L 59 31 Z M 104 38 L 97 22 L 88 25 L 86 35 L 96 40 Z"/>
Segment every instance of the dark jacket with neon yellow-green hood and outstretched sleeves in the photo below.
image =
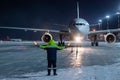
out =
<path fill-rule="evenodd" d="M 40 48 L 47 50 L 47 59 L 48 60 L 55 60 L 57 59 L 57 50 L 62 50 L 64 46 L 56 45 L 54 40 L 50 40 L 48 45 L 42 45 Z"/>

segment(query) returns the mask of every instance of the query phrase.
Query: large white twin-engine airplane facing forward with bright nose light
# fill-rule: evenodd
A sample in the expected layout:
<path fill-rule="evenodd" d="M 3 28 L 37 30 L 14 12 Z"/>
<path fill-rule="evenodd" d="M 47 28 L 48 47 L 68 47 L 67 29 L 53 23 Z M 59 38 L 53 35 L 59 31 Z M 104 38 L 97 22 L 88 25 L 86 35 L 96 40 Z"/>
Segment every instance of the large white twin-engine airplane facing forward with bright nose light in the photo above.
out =
<path fill-rule="evenodd" d="M 36 28 L 20 28 L 20 27 L 5 27 L 1 26 L 0 28 L 4 29 L 18 29 L 18 30 L 25 30 L 25 31 L 43 31 L 45 32 L 42 35 L 42 41 L 45 43 L 48 43 L 53 36 L 51 35 L 51 32 L 58 33 L 60 41 L 58 45 L 65 45 L 63 42 L 63 36 L 69 36 L 70 40 L 73 41 L 82 41 L 85 39 L 88 39 L 88 35 L 91 36 L 91 46 L 98 46 L 98 34 L 105 34 L 105 41 L 108 43 L 114 43 L 116 42 L 116 36 L 113 34 L 113 32 L 118 32 L 120 29 L 108 29 L 108 30 L 99 30 L 99 31 L 90 31 L 90 25 L 89 23 L 79 17 L 79 3 L 77 2 L 77 18 L 75 18 L 73 21 L 70 22 L 68 25 L 68 30 L 49 30 L 49 29 L 36 29 Z"/>

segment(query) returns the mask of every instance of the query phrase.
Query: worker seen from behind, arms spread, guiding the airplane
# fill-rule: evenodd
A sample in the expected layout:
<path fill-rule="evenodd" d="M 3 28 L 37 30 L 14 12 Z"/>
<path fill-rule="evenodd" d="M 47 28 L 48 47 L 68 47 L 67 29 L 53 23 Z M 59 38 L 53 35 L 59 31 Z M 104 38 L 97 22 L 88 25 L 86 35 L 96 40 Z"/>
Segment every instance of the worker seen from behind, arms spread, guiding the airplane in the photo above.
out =
<path fill-rule="evenodd" d="M 52 39 L 48 43 L 48 45 L 39 46 L 42 49 L 47 50 L 47 60 L 48 60 L 48 76 L 51 74 L 51 69 L 53 69 L 53 74 L 57 75 L 56 73 L 56 60 L 57 60 L 57 50 L 62 50 L 64 46 L 58 46 L 55 41 Z M 52 68 L 53 66 L 53 68 Z"/>

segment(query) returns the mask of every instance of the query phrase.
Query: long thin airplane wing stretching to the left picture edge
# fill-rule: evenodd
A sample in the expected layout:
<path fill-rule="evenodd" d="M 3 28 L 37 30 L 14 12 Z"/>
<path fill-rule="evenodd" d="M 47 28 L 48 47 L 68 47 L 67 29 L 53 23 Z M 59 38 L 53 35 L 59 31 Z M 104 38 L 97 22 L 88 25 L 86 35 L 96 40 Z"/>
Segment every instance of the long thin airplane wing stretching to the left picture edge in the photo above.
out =
<path fill-rule="evenodd" d="M 21 28 L 21 27 L 0 27 L 2 29 L 17 29 L 17 30 L 25 30 L 25 31 L 40 31 L 40 32 L 54 32 L 54 33 L 67 33 L 68 31 L 62 31 L 62 30 L 49 30 L 49 29 L 37 29 L 37 28 Z"/>

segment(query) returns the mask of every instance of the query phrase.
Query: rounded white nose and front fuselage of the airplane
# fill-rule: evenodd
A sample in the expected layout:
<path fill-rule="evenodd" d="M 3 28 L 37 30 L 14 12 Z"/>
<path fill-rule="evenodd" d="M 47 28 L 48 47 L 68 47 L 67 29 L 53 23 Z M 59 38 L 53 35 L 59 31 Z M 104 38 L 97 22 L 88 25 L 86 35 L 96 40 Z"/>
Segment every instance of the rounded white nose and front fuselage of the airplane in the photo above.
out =
<path fill-rule="evenodd" d="M 76 18 L 74 19 L 70 25 L 70 34 L 73 39 L 76 37 L 80 37 L 80 39 L 85 39 L 88 37 L 89 34 L 89 23 L 82 18 Z"/>

